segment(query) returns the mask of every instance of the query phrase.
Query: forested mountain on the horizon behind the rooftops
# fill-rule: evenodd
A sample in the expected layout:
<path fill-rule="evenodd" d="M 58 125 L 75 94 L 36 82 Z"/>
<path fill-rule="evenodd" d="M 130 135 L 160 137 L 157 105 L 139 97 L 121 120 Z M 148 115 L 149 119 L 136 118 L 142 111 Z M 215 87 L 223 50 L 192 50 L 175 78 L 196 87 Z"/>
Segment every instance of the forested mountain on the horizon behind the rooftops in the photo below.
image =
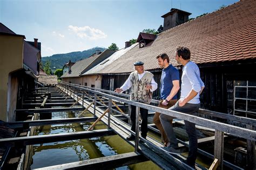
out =
<path fill-rule="evenodd" d="M 64 64 L 68 63 L 69 60 L 71 62 L 77 62 L 79 60 L 85 59 L 87 57 L 90 57 L 93 55 L 93 53 L 96 52 L 96 50 L 104 51 L 104 47 L 93 47 L 89 50 L 84 51 L 76 51 L 76 52 L 69 52 L 64 54 L 56 54 L 49 57 L 42 57 L 42 63 L 43 65 L 47 60 L 50 60 L 51 62 L 51 70 L 54 72 L 56 69 L 62 69 Z"/>

